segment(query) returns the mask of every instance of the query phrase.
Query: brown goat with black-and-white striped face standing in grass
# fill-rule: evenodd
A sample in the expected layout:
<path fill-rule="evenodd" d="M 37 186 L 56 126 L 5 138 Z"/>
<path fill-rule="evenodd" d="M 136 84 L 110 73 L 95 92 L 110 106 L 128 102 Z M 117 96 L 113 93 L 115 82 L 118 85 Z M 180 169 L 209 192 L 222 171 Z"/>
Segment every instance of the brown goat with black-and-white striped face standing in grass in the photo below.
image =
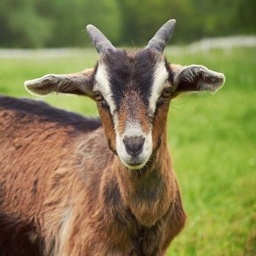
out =
<path fill-rule="evenodd" d="M 36 95 L 88 96 L 100 119 L 0 98 L 0 255 L 165 255 L 186 221 L 166 140 L 170 100 L 225 81 L 168 63 L 174 26 L 127 52 L 88 25 L 95 68 L 24 83 Z"/>

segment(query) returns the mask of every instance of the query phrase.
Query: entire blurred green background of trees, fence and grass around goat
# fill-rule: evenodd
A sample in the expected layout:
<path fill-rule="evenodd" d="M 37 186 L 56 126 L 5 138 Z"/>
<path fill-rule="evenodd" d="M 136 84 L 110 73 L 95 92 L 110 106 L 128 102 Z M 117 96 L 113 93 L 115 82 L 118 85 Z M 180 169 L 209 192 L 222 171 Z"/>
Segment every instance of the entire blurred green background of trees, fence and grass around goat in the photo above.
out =
<path fill-rule="evenodd" d="M 168 19 L 177 24 L 164 54 L 171 63 L 223 72 L 216 94 L 170 104 L 168 143 L 188 223 L 168 255 L 256 255 L 256 1 L 1 0 L 0 93 L 33 97 L 25 80 L 93 67 L 85 27 L 115 46 L 137 49 Z M 39 98 L 37 98 L 38 100 Z M 98 115 L 85 97 L 40 98 Z M 1 147 L 1 145 L 0 145 Z"/>

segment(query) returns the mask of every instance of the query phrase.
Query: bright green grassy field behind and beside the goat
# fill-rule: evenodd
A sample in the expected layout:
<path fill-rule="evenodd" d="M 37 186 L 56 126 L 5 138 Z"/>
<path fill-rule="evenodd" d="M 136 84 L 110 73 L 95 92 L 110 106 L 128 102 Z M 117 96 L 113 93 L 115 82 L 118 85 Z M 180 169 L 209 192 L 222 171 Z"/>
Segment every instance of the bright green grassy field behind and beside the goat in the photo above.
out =
<path fill-rule="evenodd" d="M 26 79 L 92 67 L 86 58 L 0 60 L 0 93 L 30 97 Z M 173 100 L 168 142 L 188 223 L 168 255 L 256 255 L 256 49 L 214 50 L 168 56 L 172 63 L 201 64 L 226 76 L 215 95 Z M 44 98 L 54 106 L 97 115 L 83 97 Z"/>

